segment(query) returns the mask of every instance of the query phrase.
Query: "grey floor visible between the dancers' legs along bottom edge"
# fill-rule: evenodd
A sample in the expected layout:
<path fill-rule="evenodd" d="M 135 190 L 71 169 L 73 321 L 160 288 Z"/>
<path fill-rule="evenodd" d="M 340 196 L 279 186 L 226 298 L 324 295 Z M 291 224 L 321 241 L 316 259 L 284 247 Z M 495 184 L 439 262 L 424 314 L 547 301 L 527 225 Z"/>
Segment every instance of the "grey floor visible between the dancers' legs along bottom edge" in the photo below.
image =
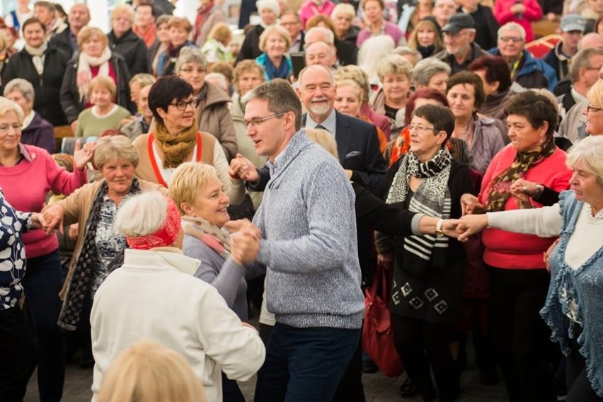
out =
<path fill-rule="evenodd" d="M 398 378 L 387 378 L 382 374 L 364 374 L 362 382 L 364 383 L 364 395 L 367 402 L 420 402 L 421 398 L 402 399 L 398 395 L 398 389 L 405 376 Z M 92 369 L 80 369 L 76 364 L 67 366 L 67 376 L 63 393 L 64 402 L 84 402 L 90 401 L 92 392 Z M 469 367 L 463 372 L 462 394 L 459 402 L 503 402 L 506 401 L 505 389 L 502 383 L 495 386 L 484 386 L 479 381 L 479 372 L 474 367 Z M 249 397 L 253 398 L 253 382 L 243 385 L 243 391 Z M 25 396 L 25 402 L 38 401 L 38 386 L 35 384 L 35 375 L 30 381 L 28 393 Z"/>

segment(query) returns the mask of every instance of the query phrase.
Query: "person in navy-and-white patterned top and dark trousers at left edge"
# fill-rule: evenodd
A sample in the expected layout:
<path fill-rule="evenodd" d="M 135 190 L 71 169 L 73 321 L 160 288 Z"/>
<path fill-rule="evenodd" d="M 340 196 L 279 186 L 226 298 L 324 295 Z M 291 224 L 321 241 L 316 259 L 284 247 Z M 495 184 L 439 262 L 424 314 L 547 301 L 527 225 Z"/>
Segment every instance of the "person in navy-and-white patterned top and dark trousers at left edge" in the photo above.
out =
<path fill-rule="evenodd" d="M 35 368 L 35 343 L 25 314 L 21 311 L 27 260 L 23 255 L 23 234 L 42 227 L 40 214 L 16 211 L 0 190 L 0 400 L 23 401 L 29 377 Z"/>

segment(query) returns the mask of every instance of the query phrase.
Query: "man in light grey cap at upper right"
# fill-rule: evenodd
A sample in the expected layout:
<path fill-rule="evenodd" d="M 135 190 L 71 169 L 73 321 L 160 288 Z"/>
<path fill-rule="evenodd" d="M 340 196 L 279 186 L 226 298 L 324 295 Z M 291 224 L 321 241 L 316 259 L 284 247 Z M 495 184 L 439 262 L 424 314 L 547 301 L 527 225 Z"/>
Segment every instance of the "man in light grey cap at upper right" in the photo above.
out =
<path fill-rule="evenodd" d="M 546 64 L 553 67 L 558 81 L 568 78 L 572 57 L 578 53 L 578 42 L 584 35 L 585 26 L 585 18 L 578 14 L 568 14 L 561 18 L 561 24 L 559 25 L 561 42 L 558 42 L 542 59 Z"/>

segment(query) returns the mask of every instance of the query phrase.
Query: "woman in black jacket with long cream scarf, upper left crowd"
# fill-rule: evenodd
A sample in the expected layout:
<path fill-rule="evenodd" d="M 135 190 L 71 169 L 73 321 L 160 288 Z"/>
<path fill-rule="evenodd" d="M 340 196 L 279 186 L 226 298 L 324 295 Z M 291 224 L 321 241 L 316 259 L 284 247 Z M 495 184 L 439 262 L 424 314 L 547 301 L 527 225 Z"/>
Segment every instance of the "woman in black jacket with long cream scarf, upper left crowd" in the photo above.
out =
<path fill-rule="evenodd" d="M 82 110 L 90 108 L 90 81 L 96 76 L 113 79 L 117 87 L 115 103 L 136 112 L 136 105 L 130 101 L 130 72 L 123 57 L 111 52 L 107 35 L 98 28 L 85 26 L 77 35 L 79 53 L 67 64 L 61 86 L 61 107 L 76 131 L 77 117 Z"/>

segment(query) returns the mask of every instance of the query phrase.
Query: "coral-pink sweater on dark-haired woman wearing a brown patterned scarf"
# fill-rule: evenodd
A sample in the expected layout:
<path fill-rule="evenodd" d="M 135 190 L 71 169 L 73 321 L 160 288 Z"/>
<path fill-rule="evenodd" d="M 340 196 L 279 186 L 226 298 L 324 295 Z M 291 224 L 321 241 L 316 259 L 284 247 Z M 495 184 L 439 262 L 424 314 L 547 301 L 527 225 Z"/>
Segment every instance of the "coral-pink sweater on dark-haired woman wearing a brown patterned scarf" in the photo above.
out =
<path fill-rule="evenodd" d="M 511 166 L 516 153 L 512 144 L 508 144 L 490 162 L 490 166 L 483 176 L 479 195 L 479 200 L 483 205 L 488 202 L 490 182 Z M 568 189 L 571 175 L 572 172 L 565 166 L 565 152 L 556 149 L 549 158 L 529 168 L 524 179 L 541 183 L 561 192 L 561 190 Z M 537 202 L 533 203 L 538 207 L 542 206 Z M 513 197 L 509 197 L 505 204 L 505 210 L 510 209 L 517 209 Z M 486 246 L 486 252 L 483 255 L 484 262 L 496 268 L 508 269 L 544 268 L 542 253 L 553 243 L 553 239 L 541 239 L 532 234 L 516 234 L 500 229 L 484 229 L 481 239 L 483 245 Z"/>

